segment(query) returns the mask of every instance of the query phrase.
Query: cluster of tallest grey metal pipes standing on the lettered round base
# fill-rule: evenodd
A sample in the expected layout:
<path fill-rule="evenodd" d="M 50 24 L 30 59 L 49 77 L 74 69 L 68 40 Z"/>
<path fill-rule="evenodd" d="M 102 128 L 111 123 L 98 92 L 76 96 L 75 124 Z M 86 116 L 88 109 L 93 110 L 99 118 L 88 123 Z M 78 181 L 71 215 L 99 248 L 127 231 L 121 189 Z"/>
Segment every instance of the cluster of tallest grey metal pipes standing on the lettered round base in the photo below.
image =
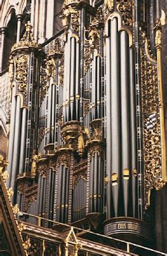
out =
<path fill-rule="evenodd" d="M 119 31 L 117 18 L 113 17 L 108 21 L 106 37 L 107 219 L 136 216 L 136 121 L 133 67 L 133 49 L 129 47 L 129 36 L 126 31 Z M 122 205 L 118 205 L 120 196 L 124 198 Z M 131 205 L 130 208 L 129 205 Z"/>

